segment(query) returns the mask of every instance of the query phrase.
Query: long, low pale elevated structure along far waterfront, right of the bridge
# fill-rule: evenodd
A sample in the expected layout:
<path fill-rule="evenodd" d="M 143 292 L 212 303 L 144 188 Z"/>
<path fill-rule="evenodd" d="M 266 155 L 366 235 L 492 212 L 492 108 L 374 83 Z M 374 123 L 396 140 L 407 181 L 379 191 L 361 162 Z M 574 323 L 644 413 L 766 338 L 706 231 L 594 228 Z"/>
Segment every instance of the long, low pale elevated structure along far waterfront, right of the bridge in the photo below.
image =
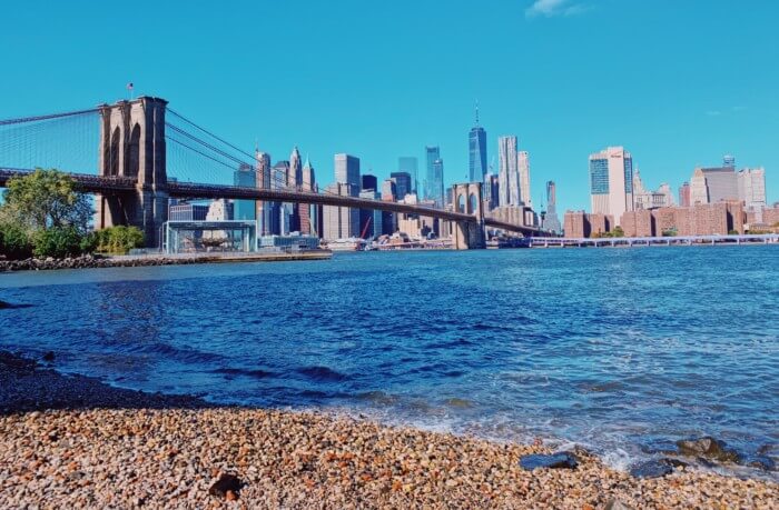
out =
<path fill-rule="evenodd" d="M 660 238 L 531 238 L 531 246 L 534 248 L 773 243 L 779 243 L 779 233 L 743 233 L 727 236 L 668 236 Z"/>

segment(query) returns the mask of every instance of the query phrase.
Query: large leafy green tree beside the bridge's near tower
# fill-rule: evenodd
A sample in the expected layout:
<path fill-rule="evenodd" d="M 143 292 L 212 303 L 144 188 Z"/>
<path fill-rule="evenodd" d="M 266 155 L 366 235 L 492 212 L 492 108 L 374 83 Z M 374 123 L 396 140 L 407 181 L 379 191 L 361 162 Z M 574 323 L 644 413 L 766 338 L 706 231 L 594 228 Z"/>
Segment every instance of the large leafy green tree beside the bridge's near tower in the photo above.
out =
<path fill-rule="evenodd" d="M 9 180 L 3 199 L 4 220 L 28 231 L 73 227 L 85 233 L 93 212 L 89 198 L 76 191 L 72 178 L 53 169 L 39 168 Z"/>

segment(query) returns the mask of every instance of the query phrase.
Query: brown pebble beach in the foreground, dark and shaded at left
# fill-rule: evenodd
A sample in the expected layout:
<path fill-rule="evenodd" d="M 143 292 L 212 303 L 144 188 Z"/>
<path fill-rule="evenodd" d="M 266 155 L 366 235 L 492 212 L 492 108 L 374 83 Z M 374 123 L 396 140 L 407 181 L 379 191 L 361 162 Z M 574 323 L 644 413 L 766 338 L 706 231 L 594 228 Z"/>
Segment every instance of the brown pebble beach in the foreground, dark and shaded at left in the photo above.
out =
<path fill-rule="evenodd" d="M 582 450 L 549 453 L 541 443 L 218 408 L 106 387 L 0 353 L 0 508 L 779 506 L 779 486 L 770 481 L 684 467 L 641 479 Z"/>

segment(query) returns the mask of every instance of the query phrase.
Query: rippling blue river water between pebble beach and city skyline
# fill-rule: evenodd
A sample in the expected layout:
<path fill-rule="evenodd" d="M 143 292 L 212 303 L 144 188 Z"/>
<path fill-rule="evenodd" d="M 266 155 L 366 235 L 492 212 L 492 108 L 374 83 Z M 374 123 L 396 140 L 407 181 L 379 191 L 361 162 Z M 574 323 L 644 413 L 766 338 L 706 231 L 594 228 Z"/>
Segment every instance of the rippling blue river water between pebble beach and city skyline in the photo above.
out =
<path fill-rule="evenodd" d="M 779 248 L 336 254 L 0 274 L 0 348 L 129 388 L 576 442 L 779 444 Z M 769 448 L 770 450 L 770 448 Z"/>

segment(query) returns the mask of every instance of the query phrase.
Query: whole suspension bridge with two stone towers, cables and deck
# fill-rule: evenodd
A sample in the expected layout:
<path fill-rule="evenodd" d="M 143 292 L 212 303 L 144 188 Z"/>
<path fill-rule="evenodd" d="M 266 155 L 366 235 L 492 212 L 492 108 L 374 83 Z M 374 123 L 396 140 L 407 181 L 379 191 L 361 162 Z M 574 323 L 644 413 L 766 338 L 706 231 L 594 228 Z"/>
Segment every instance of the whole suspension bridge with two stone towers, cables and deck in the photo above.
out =
<path fill-rule="evenodd" d="M 418 214 L 452 222 L 453 244 L 484 246 L 486 227 L 545 232 L 485 218 L 481 183 L 455 184 L 456 210 L 372 200 L 319 190 L 314 182 L 282 181 L 268 172 L 258 187 L 224 183 L 239 168 L 256 168 L 257 154 L 214 134 L 160 98 L 100 104 L 92 109 L 0 120 L 0 187 L 34 168 L 69 173 L 77 188 L 96 196 L 96 228 L 132 224 L 157 246 L 177 199 L 234 199 L 310 203 Z"/>

